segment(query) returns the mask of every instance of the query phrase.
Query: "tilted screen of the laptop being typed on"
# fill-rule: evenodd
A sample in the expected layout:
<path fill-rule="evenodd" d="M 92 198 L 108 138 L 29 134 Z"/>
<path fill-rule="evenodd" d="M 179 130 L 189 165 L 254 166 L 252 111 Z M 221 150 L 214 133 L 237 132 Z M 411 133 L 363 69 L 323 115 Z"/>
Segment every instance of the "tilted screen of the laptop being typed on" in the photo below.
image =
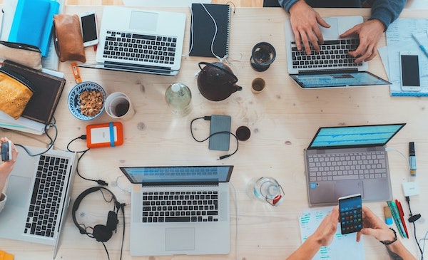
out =
<path fill-rule="evenodd" d="M 360 72 L 330 72 L 330 73 L 301 73 L 290 75 L 302 88 L 334 88 L 364 85 L 391 85 L 387 80 L 367 71 Z"/>

